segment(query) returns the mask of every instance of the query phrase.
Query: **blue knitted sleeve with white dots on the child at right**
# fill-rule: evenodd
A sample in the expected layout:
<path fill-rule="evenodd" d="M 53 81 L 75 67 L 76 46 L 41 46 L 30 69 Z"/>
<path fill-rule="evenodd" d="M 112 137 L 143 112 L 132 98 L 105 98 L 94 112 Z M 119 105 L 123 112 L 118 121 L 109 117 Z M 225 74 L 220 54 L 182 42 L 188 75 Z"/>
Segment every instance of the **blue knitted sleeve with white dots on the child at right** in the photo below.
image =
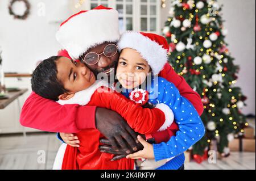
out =
<path fill-rule="evenodd" d="M 176 123 L 179 125 L 179 131 L 176 136 L 172 136 L 168 142 L 153 144 L 155 161 L 175 157 L 190 148 L 199 141 L 205 133 L 204 124 L 193 105 L 183 96 L 174 84 L 159 79 L 163 82 L 159 89 L 157 100 L 169 106 L 174 112 Z"/>

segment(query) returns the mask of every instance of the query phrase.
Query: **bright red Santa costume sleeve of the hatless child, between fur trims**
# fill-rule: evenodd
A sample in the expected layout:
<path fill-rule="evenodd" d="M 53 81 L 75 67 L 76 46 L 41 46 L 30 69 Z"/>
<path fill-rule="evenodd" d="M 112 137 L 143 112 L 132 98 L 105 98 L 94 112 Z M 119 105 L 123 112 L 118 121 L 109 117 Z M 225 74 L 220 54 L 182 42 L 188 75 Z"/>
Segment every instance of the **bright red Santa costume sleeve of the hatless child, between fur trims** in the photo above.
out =
<path fill-rule="evenodd" d="M 119 113 L 135 132 L 141 134 L 158 131 L 166 121 L 164 112 L 159 108 L 150 109 L 138 106 L 124 95 L 113 92 L 108 87 L 98 88 L 87 105 L 95 105 Z"/>

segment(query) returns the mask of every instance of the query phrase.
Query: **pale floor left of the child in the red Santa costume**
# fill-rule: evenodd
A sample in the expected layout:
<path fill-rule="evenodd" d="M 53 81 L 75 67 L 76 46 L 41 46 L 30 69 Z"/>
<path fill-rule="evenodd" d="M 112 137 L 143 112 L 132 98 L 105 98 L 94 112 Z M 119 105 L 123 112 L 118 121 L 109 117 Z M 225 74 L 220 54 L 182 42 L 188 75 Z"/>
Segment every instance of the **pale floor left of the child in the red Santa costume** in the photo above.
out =
<path fill-rule="evenodd" d="M 0 137 L 0 169 L 52 169 L 60 141 L 42 133 Z"/>

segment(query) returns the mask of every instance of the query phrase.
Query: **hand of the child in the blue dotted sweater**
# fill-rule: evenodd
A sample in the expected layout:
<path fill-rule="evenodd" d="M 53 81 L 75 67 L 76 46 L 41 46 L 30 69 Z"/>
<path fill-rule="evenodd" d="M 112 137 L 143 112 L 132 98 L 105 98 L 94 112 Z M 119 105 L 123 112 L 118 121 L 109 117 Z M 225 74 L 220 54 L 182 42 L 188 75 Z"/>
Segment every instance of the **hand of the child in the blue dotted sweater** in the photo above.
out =
<path fill-rule="evenodd" d="M 149 144 L 145 141 L 141 136 L 138 136 L 139 142 L 144 146 L 143 150 L 138 151 L 133 154 L 129 154 L 126 158 L 131 159 L 139 159 L 139 158 L 147 158 L 147 159 L 155 159 L 153 145 Z"/>

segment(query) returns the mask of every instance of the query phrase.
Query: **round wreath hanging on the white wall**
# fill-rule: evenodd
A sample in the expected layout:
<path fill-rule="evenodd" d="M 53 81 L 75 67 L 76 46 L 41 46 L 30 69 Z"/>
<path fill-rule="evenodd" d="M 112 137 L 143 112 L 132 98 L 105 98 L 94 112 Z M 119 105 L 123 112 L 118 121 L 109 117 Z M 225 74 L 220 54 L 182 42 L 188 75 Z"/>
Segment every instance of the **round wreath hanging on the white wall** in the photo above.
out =
<path fill-rule="evenodd" d="M 16 2 L 24 3 L 26 9 L 23 10 L 22 14 L 17 14 L 16 12 L 14 12 L 13 5 Z M 15 19 L 27 19 L 28 14 L 30 14 L 30 3 L 27 0 L 12 0 L 9 5 L 9 13 L 10 15 L 13 15 Z"/>

